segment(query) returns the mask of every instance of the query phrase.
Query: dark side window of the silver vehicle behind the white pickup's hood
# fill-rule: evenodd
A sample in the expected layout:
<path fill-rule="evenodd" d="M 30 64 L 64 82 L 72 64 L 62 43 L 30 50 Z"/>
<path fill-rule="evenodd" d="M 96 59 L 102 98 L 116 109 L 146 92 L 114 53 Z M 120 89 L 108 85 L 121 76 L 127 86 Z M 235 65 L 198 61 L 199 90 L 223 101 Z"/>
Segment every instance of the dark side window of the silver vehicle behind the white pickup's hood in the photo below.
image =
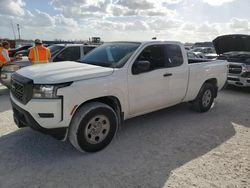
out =
<path fill-rule="evenodd" d="M 73 46 L 64 49 L 59 53 L 54 61 L 76 61 L 80 59 L 80 47 Z"/>

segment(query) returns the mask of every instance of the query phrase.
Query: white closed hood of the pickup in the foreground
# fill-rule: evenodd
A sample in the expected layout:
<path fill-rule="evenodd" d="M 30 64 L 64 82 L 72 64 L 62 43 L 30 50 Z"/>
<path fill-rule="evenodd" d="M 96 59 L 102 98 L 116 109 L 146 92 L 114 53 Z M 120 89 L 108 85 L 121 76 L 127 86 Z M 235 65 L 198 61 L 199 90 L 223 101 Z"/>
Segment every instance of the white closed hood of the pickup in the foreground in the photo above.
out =
<path fill-rule="evenodd" d="M 113 73 L 113 68 L 63 61 L 32 65 L 18 70 L 17 73 L 32 79 L 35 84 L 57 84 L 108 76 Z"/>

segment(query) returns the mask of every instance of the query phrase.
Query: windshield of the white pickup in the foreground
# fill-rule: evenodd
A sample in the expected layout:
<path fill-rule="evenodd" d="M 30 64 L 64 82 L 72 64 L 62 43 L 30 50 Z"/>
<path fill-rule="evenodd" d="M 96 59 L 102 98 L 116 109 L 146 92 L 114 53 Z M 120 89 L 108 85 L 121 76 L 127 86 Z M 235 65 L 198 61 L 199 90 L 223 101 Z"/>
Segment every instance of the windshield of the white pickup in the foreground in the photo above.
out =
<path fill-rule="evenodd" d="M 131 57 L 141 43 L 114 42 L 105 43 L 81 59 L 81 63 L 103 67 L 120 68 Z"/>

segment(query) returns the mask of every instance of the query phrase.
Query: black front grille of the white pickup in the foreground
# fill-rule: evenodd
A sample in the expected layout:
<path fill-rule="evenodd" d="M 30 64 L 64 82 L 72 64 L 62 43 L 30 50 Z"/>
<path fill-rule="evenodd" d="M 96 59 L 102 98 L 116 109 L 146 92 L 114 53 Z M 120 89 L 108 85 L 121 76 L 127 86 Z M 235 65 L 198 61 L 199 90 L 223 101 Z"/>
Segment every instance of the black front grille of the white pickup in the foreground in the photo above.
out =
<path fill-rule="evenodd" d="M 11 93 L 19 102 L 27 104 L 33 95 L 33 81 L 14 73 L 11 76 Z"/>

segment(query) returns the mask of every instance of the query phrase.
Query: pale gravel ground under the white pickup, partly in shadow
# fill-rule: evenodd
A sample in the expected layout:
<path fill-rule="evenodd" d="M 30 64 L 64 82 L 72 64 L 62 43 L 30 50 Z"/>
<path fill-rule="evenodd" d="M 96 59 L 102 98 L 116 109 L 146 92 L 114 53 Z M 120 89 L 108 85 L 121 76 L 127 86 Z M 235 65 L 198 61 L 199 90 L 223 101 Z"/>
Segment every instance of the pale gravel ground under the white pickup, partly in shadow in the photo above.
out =
<path fill-rule="evenodd" d="M 250 187 L 250 89 L 204 114 L 188 104 L 128 120 L 105 150 L 81 154 L 17 129 L 0 86 L 0 187 Z"/>

